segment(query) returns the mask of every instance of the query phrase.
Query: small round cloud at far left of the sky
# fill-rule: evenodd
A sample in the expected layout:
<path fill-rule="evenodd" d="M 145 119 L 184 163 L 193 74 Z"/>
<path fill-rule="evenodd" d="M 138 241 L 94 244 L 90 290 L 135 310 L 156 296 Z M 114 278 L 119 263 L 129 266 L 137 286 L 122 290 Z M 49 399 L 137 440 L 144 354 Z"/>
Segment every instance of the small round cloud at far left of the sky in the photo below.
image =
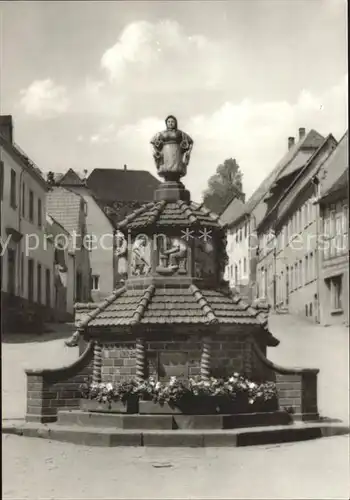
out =
<path fill-rule="evenodd" d="M 20 91 L 20 105 L 24 111 L 36 117 L 48 118 L 65 113 L 69 108 L 67 90 L 56 85 L 50 78 L 35 80 Z"/>

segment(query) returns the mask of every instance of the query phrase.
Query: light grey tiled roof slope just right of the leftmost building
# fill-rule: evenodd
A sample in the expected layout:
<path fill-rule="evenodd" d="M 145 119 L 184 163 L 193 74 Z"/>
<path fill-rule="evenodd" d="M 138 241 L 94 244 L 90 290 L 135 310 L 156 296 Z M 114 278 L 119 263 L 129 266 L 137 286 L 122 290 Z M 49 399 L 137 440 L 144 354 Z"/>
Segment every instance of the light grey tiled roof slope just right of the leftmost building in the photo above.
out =
<path fill-rule="evenodd" d="M 70 234 L 80 231 L 80 209 L 83 198 L 61 186 L 52 188 L 47 195 L 47 213 Z"/>

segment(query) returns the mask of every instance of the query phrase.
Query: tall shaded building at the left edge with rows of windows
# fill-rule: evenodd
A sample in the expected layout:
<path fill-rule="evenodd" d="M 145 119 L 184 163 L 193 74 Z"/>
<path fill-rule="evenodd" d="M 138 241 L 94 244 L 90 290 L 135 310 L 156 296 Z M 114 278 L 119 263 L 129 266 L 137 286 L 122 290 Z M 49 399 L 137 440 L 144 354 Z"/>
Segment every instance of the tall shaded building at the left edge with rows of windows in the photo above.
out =
<path fill-rule="evenodd" d="M 15 144 L 12 117 L 0 125 L 2 310 L 4 328 L 18 331 L 54 316 L 54 249 L 45 234 L 47 183 Z"/>

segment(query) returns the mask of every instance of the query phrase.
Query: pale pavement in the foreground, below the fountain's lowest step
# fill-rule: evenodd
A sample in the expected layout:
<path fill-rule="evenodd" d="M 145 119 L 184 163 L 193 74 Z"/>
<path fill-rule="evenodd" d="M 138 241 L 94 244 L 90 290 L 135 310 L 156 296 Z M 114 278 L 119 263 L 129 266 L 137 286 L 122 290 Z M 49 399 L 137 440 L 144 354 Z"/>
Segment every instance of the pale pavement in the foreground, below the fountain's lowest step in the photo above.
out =
<path fill-rule="evenodd" d="M 248 448 L 91 448 L 3 436 L 4 499 L 348 499 L 349 439 Z"/>

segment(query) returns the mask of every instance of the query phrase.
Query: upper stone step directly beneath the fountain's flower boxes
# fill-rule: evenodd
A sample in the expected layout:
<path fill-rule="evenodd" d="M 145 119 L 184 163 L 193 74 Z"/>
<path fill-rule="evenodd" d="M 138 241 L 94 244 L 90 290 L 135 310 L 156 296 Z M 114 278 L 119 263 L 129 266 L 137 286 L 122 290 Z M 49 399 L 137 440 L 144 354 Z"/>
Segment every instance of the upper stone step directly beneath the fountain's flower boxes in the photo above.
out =
<path fill-rule="evenodd" d="M 285 411 L 241 413 L 234 415 L 130 415 L 82 410 L 61 410 L 58 425 L 114 427 L 115 429 L 236 429 L 269 425 L 289 425 L 292 417 Z"/>

